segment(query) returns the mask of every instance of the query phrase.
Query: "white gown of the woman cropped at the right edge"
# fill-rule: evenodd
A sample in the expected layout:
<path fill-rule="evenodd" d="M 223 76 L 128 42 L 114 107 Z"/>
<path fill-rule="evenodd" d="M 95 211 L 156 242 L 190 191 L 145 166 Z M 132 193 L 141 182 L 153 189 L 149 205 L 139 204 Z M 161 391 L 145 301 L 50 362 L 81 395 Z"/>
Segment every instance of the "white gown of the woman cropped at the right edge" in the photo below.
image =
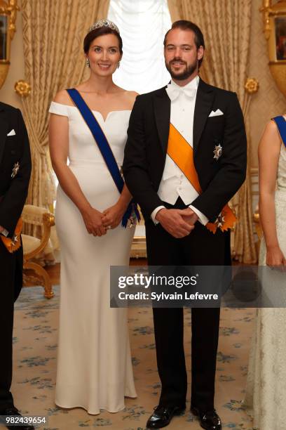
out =
<path fill-rule="evenodd" d="M 286 122 L 285 122 L 286 126 Z M 286 256 L 286 148 L 281 144 L 275 212 L 278 241 Z M 259 266 L 266 266 L 266 246 L 261 240 Z M 266 269 L 264 271 L 264 269 Z M 262 268 L 266 296 L 286 306 L 286 273 Z M 265 288 L 266 286 L 266 288 Z M 247 375 L 245 407 L 254 419 L 254 429 L 286 430 L 286 308 L 259 308 Z"/>

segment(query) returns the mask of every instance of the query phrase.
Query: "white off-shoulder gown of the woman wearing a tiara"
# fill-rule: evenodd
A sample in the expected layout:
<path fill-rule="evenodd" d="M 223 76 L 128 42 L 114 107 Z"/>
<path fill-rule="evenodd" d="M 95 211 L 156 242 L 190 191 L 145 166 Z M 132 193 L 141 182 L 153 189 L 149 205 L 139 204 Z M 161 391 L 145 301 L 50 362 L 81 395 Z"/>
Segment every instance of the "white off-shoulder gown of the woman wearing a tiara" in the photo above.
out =
<path fill-rule="evenodd" d="M 90 204 L 103 211 L 118 200 L 90 129 L 77 107 L 52 102 L 50 112 L 69 119 L 69 167 Z M 118 166 L 123 163 L 130 110 L 110 112 L 106 121 L 93 111 Z M 136 397 L 127 308 L 109 308 L 109 267 L 128 266 L 134 229 L 88 234 L 79 209 L 57 188 L 55 213 L 61 247 L 60 327 L 55 403 L 82 407 L 90 414 L 125 408 Z"/>

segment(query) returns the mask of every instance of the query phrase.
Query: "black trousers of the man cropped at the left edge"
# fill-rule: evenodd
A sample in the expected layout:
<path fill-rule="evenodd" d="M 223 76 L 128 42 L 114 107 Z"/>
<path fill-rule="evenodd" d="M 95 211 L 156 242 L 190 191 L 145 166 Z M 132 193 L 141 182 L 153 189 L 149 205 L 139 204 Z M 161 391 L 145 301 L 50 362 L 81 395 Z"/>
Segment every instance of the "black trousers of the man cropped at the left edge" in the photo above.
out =
<path fill-rule="evenodd" d="M 22 287 L 22 247 L 10 254 L 0 238 L 0 412 L 13 405 L 12 341 L 14 301 Z"/>

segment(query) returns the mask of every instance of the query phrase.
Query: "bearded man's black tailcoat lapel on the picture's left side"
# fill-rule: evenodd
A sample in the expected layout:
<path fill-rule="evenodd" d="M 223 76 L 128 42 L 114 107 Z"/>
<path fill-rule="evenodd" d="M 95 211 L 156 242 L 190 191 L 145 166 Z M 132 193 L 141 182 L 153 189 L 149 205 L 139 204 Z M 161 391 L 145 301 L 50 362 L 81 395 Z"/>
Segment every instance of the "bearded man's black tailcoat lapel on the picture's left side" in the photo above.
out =
<path fill-rule="evenodd" d="M 154 112 L 163 154 L 166 154 L 170 131 L 171 102 L 165 87 L 154 96 Z"/>

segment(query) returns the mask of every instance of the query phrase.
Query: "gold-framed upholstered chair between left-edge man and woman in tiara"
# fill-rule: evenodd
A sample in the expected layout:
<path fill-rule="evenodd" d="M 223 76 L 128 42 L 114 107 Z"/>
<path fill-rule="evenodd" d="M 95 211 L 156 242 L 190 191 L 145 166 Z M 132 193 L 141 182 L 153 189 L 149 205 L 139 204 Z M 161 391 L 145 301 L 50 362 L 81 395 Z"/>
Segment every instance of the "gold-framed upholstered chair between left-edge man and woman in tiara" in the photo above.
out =
<path fill-rule="evenodd" d="M 51 299 L 54 295 L 52 283 L 47 271 L 36 261 L 35 257 L 40 256 L 48 245 L 50 238 L 50 228 L 55 225 L 55 217 L 44 207 L 36 207 L 32 204 L 25 204 L 22 211 L 22 221 L 33 226 L 38 226 L 41 230 L 41 239 L 38 237 L 22 234 L 24 271 L 31 269 L 36 273 L 37 280 L 42 280 L 41 285 L 45 290 L 44 296 Z M 29 278 L 29 276 L 27 277 Z"/>

